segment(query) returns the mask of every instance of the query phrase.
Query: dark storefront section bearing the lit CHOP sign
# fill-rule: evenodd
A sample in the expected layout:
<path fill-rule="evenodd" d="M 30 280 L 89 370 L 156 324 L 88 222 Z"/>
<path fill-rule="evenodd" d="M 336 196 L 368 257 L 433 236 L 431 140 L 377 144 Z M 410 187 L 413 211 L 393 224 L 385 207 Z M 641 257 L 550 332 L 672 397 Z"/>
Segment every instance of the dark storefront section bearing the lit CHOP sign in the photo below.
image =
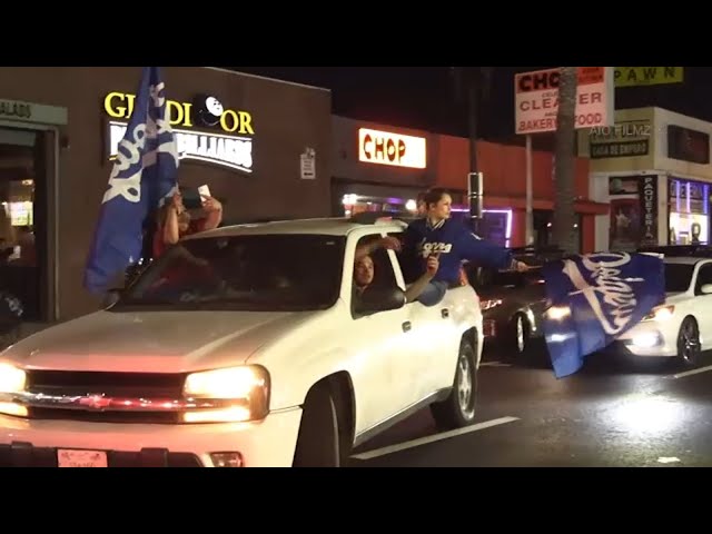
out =
<path fill-rule="evenodd" d="M 415 211 L 435 184 L 437 136 L 332 117 L 332 215 Z"/>

